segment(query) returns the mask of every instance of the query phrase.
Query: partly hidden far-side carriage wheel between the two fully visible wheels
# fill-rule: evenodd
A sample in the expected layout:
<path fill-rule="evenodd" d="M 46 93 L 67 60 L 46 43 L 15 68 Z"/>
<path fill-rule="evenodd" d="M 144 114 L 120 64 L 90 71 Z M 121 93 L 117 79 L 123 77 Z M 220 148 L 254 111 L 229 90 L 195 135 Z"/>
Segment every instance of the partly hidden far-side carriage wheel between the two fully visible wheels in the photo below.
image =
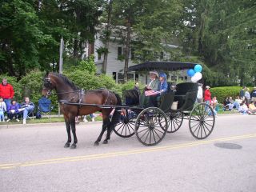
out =
<path fill-rule="evenodd" d="M 184 114 L 182 114 L 179 111 L 168 113 L 167 114 L 167 122 L 168 122 L 167 133 L 176 132 L 182 126 L 183 118 L 184 118 Z"/>

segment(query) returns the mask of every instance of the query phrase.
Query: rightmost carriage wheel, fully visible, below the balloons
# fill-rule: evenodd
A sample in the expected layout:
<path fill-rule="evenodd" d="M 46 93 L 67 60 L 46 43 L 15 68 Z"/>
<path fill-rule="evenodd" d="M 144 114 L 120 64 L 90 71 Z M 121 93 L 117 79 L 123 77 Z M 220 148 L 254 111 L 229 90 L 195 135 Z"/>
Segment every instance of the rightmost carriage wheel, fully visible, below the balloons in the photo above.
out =
<path fill-rule="evenodd" d="M 194 138 L 207 138 L 214 130 L 214 124 L 214 110 L 209 105 L 200 103 L 194 106 L 189 118 L 190 133 Z"/>

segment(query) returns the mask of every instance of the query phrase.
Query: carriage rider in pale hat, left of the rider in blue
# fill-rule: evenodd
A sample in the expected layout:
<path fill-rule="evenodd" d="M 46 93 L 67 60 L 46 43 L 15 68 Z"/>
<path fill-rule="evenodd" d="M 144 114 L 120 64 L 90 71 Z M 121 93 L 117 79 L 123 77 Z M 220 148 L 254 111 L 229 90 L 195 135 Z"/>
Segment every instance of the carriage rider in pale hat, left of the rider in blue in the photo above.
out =
<path fill-rule="evenodd" d="M 158 72 L 150 71 L 150 83 L 145 86 L 145 90 L 158 90 L 160 82 L 158 80 Z M 145 93 L 142 93 L 140 99 L 140 105 L 146 107 L 150 105 L 150 97 L 146 97 Z"/>

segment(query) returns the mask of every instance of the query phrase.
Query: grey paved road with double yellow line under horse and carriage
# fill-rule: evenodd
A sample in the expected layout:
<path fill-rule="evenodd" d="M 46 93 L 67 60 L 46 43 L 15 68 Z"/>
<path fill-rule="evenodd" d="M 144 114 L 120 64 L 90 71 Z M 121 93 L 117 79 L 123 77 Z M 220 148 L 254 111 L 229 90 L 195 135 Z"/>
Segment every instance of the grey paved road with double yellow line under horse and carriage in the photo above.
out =
<path fill-rule="evenodd" d="M 94 146 L 100 126 L 79 125 L 76 150 L 63 123 L 0 126 L 0 191 L 256 191 L 256 116 L 219 116 L 203 141 L 185 121 L 155 147 L 114 134 Z"/>

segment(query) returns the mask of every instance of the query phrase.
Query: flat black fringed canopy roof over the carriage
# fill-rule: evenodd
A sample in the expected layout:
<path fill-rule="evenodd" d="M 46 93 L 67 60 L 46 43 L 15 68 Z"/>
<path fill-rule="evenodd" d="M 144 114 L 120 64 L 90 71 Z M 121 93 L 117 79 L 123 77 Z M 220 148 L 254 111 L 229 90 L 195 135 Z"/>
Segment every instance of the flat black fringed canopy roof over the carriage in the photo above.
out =
<path fill-rule="evenodd" d="M 130 66 L 128 71 L 148 71 L 148 70 L 188 70 L 194 69 L 196 63 L 192 62 L 143 62 L 141 64 Z"/>

